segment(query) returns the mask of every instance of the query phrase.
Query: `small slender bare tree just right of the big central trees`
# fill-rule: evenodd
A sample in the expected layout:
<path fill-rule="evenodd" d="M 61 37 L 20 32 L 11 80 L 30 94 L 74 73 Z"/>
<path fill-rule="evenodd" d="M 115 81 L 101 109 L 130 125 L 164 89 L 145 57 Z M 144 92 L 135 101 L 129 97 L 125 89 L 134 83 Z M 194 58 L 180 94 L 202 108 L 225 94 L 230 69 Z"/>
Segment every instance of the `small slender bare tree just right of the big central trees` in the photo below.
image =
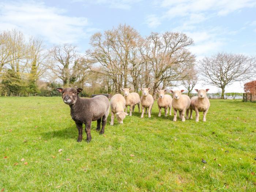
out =
<path fill-rule="evenodd" d="M 188 71 L 188 76 L 181 80 L 181 84 L 188 90 L 188 96 L 190 97 L 191 91 L 196 86 L 198 80 L 197 71 L 192 68 Z"/>

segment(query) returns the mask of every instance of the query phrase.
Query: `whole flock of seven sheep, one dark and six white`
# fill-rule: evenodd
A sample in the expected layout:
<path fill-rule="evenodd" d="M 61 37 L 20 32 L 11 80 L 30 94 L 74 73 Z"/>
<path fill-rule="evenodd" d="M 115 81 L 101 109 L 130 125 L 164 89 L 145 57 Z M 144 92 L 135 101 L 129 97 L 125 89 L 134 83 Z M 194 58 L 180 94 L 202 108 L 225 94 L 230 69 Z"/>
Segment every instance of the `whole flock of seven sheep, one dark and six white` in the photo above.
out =
<path fill-rule="evenodd" d="M 100 134 L 104 133 L 106 120 L 109 114 L 109 108 L 111 108 L 111 122 L 114 124 L 114 116 L 116 115 L 118 123 L 123 123 L 127 113 L 127 106 L 130 106 L 129 115 L 132 116 L 134 108 L 138 105 L 140 113 L 140 105 L 142 108 L 141 118 L 144 116 L 144 109 L 148 117 L 151 117 L 152 106 L 154 104 L 153 96 L 149 94 L 150 88 L 140 88 L 142 91 L 142 97 L 139 97 L 138 93 L 130 93 L 131 88 L 121 89 L 124 92 L 124 96 L 121 94 L 115 94 L 110 99 L 103 95 L 97 95 L 93 98 L 80 98 L 78 94 L 83 90 L 81 88 L 57 88 L 57 91 L 62 93 L 64 103 L 70 106 L 71 117 L 76 123 L 78 128 L 78 142 L 82 141 L 83 124 L 85 124 L 85 131 L 87 135 L 87 142 L 91 140 L 91 121 L 97 120 L 97 129 L 100 130 L 100 124 L 102 128 Z M 170 91 L 173 98 L 165 94 L 166 90 L 158 90 L 158 117 L 161 117 L 162 108 L 165 109 L 165 116 L 167 116 L 167 109 L 169 108 L 170 115 L 172 114 L 171 108 L 174 110 L 173 121 L 177 121 L 177 111 L 181 121 L 188 119 L 189 110 L 190 118 L 192 119 L 193 110 L 196 112 L 196 122 L 199 121 L 199 112 L 203 112 L 203 121 L 206 121 L 206 114 L 210 107 L 210 101 L 207 98 L 207 91 L 209 89 L 195 89 L 198 96 L 189 98 L 188 95 L 181 94 L 184 90 Z M 124 111 L 125 110 L 125 111 Z M 185 118 L 186 112 L 186 118 Z"/>

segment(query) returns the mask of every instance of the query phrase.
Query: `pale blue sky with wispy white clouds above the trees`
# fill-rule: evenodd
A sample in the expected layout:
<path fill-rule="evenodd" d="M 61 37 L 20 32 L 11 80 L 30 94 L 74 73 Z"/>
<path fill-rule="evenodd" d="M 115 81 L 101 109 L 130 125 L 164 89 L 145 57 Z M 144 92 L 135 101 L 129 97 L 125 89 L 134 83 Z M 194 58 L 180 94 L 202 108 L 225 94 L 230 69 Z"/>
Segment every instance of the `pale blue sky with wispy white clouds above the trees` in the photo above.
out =
<path fill-rule="evenodd" d="M 71 43 L 83 53 L 93 33 L 120 23 L 142 36 L 184 32 L 194 39 L 190 50 L 198 60 L 222 51 L 256 55 L 255 0 L 0 1 L 0 30 L 16 28 L 48 47 Z M 229 89 L 242 91 L 238 83 Z"/>

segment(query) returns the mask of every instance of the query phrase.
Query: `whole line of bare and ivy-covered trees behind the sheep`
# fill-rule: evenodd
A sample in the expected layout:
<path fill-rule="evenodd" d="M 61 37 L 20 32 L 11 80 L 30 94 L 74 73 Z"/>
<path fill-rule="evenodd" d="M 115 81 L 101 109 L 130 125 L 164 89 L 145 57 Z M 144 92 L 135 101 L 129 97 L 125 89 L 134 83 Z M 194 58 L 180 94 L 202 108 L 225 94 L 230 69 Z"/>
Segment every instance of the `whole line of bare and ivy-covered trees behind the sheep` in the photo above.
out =
<path fill-rule="evenodd" d="M 197 62 L 189 51 L 193 39 L 180 32 L 152 32 L 147 37 L 119 25 L 90 38 L 84 54 L 71 44 L 46 49 L 37 38 L 17 30 L 0 32 L 1 95 L 53 96 L 56 86 L 82 87 L 93 93 L 120 93 L 122 87 L 156 90 L 182 84 L 188 94 L 198 80 L 222 89 L 251 78 L 255 57 L 218 53 Z"/>

